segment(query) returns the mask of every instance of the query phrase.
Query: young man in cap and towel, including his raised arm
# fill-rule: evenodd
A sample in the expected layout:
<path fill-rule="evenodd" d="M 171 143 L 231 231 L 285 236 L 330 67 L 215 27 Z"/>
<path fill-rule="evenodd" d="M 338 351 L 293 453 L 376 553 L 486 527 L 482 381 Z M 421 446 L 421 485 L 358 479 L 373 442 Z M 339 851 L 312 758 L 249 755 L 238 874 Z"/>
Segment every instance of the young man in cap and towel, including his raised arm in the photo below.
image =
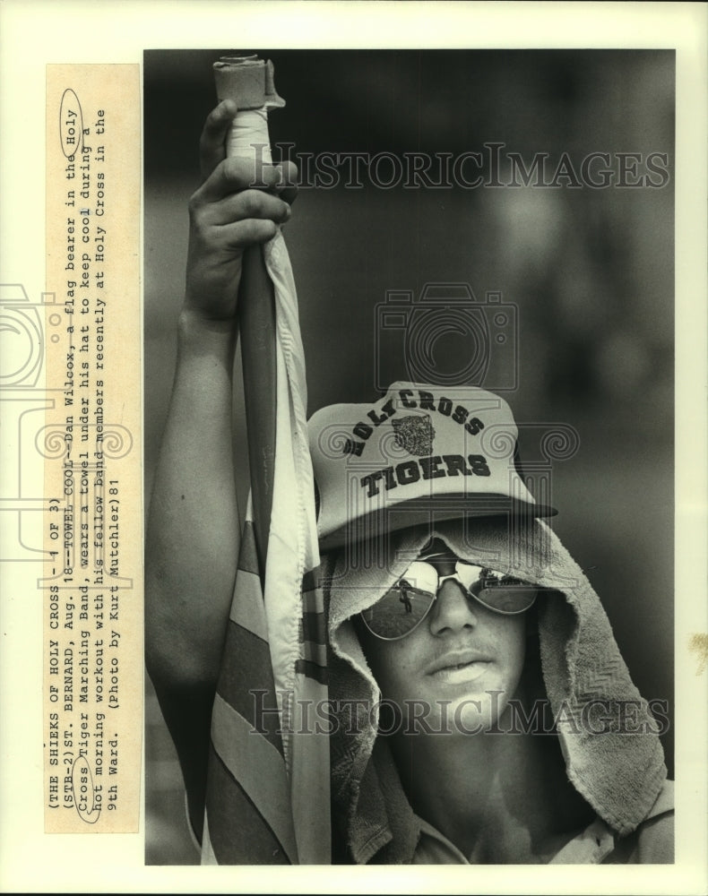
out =
<path fill-rule="evenodd" d="M 240 534 L 241 258 L 289 220 L 294 196 L 281 186 L 292 169 L 263 168 L 254 188 L 246 163 L 224 159 L 234 112 L 221 103 L 204 127 L 146 550 L 148 668 L 198 836 Z M 332 427 L 353 434 L 343 455 L 327 448 Z M 472 388 L 394 383 L 311 421 L 334 861 L 672 861 L 657 723 L 589 582 L 540 520 L 551 511 L 524 486 L 514 440 L 505 402 Z"/>

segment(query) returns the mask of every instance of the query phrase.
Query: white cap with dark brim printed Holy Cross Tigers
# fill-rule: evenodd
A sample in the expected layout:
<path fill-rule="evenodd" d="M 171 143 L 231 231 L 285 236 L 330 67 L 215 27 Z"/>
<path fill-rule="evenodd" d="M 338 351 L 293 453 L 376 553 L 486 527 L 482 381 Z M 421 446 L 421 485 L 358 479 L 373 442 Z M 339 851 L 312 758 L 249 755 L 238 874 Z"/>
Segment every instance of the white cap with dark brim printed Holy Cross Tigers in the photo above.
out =
<path fill-rule="evenodd" d="M 462 516 L 552 516 L 520 475 L 504 399 L 476 386 L 393 383 L 372 404 L 336 404 L 309 421 L 325 550 Z"/>

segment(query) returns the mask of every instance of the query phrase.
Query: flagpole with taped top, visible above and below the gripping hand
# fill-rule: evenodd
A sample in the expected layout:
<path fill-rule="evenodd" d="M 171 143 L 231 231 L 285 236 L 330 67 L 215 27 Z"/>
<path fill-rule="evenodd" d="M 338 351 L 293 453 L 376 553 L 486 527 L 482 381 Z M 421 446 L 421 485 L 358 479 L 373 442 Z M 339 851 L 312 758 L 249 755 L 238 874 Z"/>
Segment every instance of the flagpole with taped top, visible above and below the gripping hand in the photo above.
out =
<path fill-rule="evenodd" d="M 227 155 L 255 160 L 257 173 L 258 164 L 272 161 L 267 113 L 285 105 L 273 86 L 272 64 L 257 56 L 223 56 L 214 64 L 214 78 L 219 99 L 233 99 L 238 107 L 227 137 Z M 261 246 L 249 246 L 244 252 L 237 317 L 255 544 L 264 581 L 275 468 L 277 378 L 275 297 Z"/>

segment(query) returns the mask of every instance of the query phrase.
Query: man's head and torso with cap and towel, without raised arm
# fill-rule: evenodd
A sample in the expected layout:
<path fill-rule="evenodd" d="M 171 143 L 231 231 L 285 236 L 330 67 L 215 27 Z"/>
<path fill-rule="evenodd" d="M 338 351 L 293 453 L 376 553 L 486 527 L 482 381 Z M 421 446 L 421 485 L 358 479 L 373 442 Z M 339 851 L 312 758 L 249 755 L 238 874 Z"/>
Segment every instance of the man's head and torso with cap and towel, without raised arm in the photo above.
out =
<path fill-rule="evenodd" d="M 658 721 L 523 483 L 505 401 L 393 383 L 310 425 L 337 858 L 672 861 Z M 338 430 L 366 441 L 345 459 Z"/>

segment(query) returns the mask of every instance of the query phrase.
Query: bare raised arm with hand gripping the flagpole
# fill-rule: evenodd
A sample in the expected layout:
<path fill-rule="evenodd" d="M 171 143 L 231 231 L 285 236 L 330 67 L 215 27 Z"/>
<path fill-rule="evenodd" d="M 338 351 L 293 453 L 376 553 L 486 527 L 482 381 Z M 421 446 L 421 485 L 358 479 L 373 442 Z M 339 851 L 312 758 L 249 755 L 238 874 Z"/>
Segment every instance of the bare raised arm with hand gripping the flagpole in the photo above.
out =
<path fill-rule="evenodd" d="M 151 497 L 145 550 L 147 668 L 202 830 L 212 700 L 239 546 L 232 374 L 246 246 L 289 218 L 292 170 L 225 159 L 236 108 L 214 109 L 200 145 L 203 185 L 190 202 L 177 370 Z"/>

